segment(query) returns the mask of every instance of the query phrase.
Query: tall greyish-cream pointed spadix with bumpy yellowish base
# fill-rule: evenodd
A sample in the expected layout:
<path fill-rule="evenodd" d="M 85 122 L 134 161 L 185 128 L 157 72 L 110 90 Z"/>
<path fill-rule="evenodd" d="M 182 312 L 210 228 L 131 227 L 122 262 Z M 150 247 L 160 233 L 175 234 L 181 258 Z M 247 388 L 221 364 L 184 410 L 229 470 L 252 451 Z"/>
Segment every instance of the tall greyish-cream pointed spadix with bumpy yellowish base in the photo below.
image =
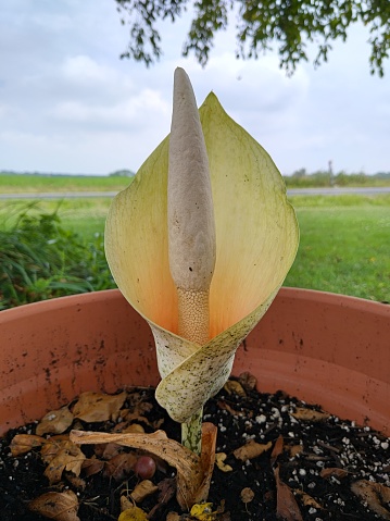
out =
<path fill-rule="evenodd" d="M 191 83 L 176 69 L 167 188 L 168 258 L 178 293 L 178 334 L 209 340 L 215 224 L 207 152 Z"/>

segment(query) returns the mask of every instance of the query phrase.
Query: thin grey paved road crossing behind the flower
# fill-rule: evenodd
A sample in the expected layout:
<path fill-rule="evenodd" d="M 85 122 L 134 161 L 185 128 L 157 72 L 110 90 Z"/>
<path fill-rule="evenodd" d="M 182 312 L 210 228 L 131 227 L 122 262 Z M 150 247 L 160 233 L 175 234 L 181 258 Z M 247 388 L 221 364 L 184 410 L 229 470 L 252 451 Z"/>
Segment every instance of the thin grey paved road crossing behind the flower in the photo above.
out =
<path fill-rule="evenodd" d="M 117 191 L 55 191 L 36 194 L 0 194 L 0 199 L 74 199 L 83 197 L 114 197 Z M 291 188 L 287 190 L 289 196 L 341 196 L 355 194 L 372 196 L 390 194 L 390 186 L 367 188 Z"/>

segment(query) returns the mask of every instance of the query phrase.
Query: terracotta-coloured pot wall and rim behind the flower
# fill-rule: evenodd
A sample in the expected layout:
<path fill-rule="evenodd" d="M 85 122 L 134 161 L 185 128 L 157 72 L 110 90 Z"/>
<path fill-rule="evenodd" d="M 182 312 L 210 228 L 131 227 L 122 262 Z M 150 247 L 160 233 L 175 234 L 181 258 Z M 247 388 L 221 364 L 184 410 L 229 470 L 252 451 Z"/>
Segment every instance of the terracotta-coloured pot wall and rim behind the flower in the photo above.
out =
<path fill-rule="evenodd" d="M 116 289 L 0 312 L 0 434 L 83 390 L 159 382 L 148 324 Z M 236 357 L 284 389 L 390 434 L 390 307 L 282 288 Z"/>

